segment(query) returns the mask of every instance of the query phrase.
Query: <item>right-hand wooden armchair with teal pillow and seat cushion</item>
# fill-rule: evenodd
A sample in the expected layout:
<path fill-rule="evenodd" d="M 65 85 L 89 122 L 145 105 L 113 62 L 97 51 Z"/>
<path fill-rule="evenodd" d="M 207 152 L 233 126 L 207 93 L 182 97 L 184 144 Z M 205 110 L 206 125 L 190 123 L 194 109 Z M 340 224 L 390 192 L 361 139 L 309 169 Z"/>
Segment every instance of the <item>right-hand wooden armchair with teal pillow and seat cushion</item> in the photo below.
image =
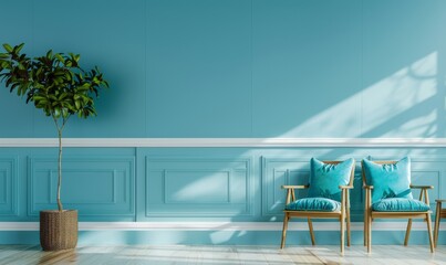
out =
<path fill-rule="evenodd" d="M 427 222 L 431 252 L 434 252 L 428 189 L 432 186 L 411 184 L 411 159 L 400 161 L 362 161 L 365 189 L 364 245 L 372 251 L 372 222 L 374 219 L 408 219 L 404 245 L 408 243 L 412 219 Z M 421 189 L 419 200 L 413 199 L 411 189 Z"/>

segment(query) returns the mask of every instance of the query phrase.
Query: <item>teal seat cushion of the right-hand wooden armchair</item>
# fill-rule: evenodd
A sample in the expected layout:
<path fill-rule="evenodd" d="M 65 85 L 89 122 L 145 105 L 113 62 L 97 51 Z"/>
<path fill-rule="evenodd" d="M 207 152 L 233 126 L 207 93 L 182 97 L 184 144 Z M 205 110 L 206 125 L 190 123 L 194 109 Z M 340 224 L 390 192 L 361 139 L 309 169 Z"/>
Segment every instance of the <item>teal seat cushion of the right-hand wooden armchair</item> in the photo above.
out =
<path fill-rule="evenodd" d="M 418 200 L 391 198 L 373 203 L 372 210 L 377 212 L 425 212 L 429 211 L 431 208 Z"/>

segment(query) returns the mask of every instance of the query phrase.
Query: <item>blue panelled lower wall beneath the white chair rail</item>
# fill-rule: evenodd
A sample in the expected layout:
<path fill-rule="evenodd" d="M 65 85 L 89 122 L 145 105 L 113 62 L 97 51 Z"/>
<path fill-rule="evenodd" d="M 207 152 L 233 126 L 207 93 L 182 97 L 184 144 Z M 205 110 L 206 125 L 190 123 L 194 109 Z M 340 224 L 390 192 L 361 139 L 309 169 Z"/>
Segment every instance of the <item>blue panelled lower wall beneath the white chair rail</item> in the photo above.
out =
<path fill-rule="evenodd" d="M 442 148 L 64 150 L 62 200 L 65 209 L 79 210 L 81 231 L 86 230 L 81 232 L 80 240 L 85 244 L 279 244 L 286 199 L 281 186 L 308 183 L 310 156 L 321 160 L 356 159 L 351 191 L 354 244 L 363 242 L 362 158 L 370 155 L 376 160 L 396 160 L 408 155 L 413 183 L 434 186 L 429 191 L 431 205 L 446 195 L 446 153 Z M 38 221 L 40 210 L 56 209 L 55 186 L 56 148 L 0 148 L 0 220 L 12 222 L 0 223 L 0 227 L 7 227 L 0 231 L 0 242 L 38 243 L 27 222 Z M 418 195 L 414 190 L 414 197 Z M 317 237 L 325 244 L 338 244 L 326 237 L 326 233 L 339 233 L 338 223 L 325 221 L 315 220 Z M 405 220 L 377 221 L 374 242 L 403 241 Z M 33 225 L 37 230 L 37 223 Z M 310 244 L 307 224 L 293 225 L 288 243 Z M 96 229 L 102 231 L 91 231 Z M 426 244 L 424 229 L 425 223 L 417 220 L 412 243 Z M 444 234 L 443 231 L 440 236 Z"/>

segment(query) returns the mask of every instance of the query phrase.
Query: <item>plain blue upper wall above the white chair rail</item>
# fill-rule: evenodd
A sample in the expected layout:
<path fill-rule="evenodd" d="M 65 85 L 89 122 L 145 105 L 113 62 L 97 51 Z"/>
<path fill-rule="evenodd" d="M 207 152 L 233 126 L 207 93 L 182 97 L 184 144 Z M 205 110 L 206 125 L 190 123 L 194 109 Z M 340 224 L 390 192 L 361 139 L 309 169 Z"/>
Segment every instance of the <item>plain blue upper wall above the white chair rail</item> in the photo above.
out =
<path fill-rule="evenodd" d="M 69 137 L 445 137 L 442 0 L 18 0 L 0 42 L 97 64 Z M 53 137 L 0 89 L 0 137 Z M 13 114 L 13 115 L 11 115 Z"/>

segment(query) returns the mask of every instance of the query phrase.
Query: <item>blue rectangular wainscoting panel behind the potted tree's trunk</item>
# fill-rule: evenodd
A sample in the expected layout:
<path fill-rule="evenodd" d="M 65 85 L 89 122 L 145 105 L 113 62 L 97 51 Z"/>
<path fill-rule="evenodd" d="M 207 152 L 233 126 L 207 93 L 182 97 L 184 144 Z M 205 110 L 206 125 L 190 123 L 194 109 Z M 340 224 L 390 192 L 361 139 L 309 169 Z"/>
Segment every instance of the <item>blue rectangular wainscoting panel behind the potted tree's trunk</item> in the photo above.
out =
<path fill-rule="evenodd" d="M 123 218 L 135 214 L 134 158 L 66 157 L 63 162 L 62 202 L 77 209 L 80 220 Z M 29 158 L 29 209 L 56 208 L 58 163 L 54 158 Z"/>

